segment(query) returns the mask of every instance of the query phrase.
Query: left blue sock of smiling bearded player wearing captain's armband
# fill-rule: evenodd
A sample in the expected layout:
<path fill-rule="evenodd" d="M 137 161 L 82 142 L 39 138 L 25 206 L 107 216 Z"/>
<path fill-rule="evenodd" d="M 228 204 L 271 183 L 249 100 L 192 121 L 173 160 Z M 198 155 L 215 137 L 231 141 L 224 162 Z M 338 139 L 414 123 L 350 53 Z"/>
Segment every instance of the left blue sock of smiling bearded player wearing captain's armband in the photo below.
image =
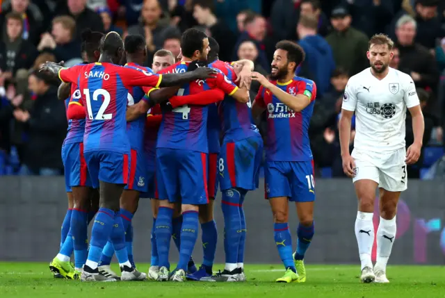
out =
<path fill-rule="evenodd" d="M 277 245 L 278 254 L 286 269 L 296 272 L 292 257 L 292 237 L 287 222 L 273 225 L 273 235 Z"/>

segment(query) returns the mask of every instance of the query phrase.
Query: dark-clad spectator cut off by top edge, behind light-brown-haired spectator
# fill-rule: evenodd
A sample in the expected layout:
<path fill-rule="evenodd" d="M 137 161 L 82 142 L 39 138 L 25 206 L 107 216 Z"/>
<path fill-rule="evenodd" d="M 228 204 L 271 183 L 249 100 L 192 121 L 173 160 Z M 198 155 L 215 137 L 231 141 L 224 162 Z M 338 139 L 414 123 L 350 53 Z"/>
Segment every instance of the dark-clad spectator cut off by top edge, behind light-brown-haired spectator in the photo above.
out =
<path fill-rule="evenodd" d="M 86 0 L 59 1 L 56 15 L 70 15 L 76 21 L 76 39 L 80 40 L 81 33 L 90 28 L 91 31 L 104 32 L 102 18 L 90 8 L 86 7 Z"/>

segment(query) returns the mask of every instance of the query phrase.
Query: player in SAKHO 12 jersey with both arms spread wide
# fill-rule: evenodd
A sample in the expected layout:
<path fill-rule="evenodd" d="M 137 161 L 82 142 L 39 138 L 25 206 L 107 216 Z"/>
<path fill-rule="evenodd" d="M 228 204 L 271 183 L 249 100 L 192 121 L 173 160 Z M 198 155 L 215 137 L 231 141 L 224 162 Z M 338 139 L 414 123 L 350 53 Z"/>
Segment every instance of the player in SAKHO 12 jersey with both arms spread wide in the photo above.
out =
<path fill-rule="evenodd" d="M 79 81 L 82 101 L 87 107 L 86 132 L 83 138 L 84 156 L 93 186 L 100 185 L 102 208 L 92 228 L 90 251 L 83 266 L 83 281 L 115 281 L 99 274 L 97 265 L 102 249 L 111 237 L 121 267 L 121 280 L 136 280 L 141 275 L 131 266 L 125 247 L 120 195 L 129 176 L 130 144 L 127 137 L 128 88 L 138 85 L 175 85 L 208 78 L 212 69 L 197 69 L 188 74 L 149 74 L 140 69 L 115 65 L 122 60 L 124 44 L 120 35 L 108 33 L 101 41 L 99 63 L 62 69 L 55 63 L 45 63 L 42 70 L 58 74 L 62 81 Z"/>

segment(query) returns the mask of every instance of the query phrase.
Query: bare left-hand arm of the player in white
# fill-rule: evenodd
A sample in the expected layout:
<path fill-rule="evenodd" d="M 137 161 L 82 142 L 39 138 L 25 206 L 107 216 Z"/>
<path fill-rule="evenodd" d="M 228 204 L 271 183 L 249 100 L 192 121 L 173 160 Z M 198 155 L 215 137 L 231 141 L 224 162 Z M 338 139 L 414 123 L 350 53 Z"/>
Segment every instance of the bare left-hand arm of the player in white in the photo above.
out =
<path fill-rule="evenodd" d="M 341 160 L 343 163 L 343 172 L 346 176 L 353 178 L 355 175 L 355 162 L 354 158 L 349 154 L 349 142 L 350 142 L 350 124 L 353 119 L 354 111 L 341 110 L 339 121 L 339 133 L 340 133 L 340 149 Z"/>

